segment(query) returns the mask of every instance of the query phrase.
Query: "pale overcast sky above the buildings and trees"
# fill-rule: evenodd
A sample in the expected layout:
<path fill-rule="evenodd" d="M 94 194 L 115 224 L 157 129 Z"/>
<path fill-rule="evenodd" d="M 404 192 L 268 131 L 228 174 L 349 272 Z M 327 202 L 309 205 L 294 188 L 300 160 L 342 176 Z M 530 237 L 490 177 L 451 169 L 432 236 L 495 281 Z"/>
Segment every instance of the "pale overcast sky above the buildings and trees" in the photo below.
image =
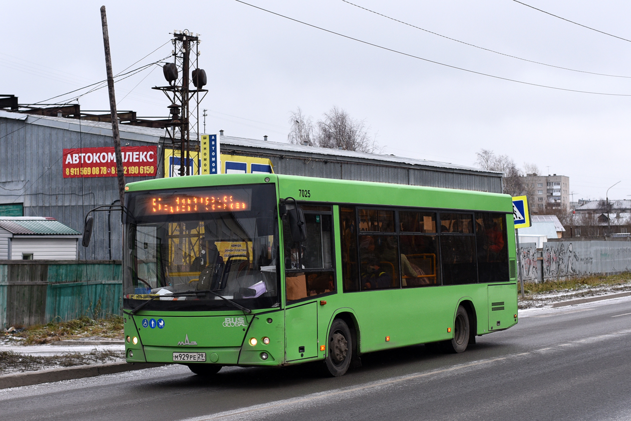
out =
<path fill-rule="evenodd" d="M 304 23 L 236 0 L 0 0 L 0 93 L 33 104 L 104 80 L 105 4 L 114 73 L 170 56 L 174 30 L 199 33 L 206 133 L 286 142 L 292 110 L 317 120 L 336 106 L 382 153 L 475 167 L 487 149 L 569 176 L 574 200 L 604 198 L 618 181 L 609 198 L 631 196 L 630 2 L 523 1 L 620 39 L 515 0 L 349 1 L 398 21 L 343 0 L 247 0 Z M 117 82 L 117 109 L 167 117 L 151 90 L 163 85 L 157 64 Z M 108 110 L 107 88 L 78 102 Z"/>

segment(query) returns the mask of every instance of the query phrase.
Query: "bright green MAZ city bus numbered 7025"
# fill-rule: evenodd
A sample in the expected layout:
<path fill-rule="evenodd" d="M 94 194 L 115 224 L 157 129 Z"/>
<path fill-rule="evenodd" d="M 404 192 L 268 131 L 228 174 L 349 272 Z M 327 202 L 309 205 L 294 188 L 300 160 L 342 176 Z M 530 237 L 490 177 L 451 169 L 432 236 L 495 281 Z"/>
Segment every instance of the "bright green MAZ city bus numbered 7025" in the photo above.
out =
<path fill-rule="evenodd" d="M 505 194 L 276 174 L 125 190 L 127 362 L 341 376 L 363 353 L 463 352 L 517 323 Z"/>

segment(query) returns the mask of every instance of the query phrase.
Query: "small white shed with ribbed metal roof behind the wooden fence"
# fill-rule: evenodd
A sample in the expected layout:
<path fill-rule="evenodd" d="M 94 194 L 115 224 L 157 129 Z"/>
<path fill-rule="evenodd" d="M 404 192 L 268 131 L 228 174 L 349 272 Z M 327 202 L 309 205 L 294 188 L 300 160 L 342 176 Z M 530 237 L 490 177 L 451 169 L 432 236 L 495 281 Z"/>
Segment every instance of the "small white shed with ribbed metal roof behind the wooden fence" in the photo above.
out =
<path fill-rule="evenodd" d="M 0 216 L 0 260 L 76 260 L 80 238 L 55 218 Z"/>

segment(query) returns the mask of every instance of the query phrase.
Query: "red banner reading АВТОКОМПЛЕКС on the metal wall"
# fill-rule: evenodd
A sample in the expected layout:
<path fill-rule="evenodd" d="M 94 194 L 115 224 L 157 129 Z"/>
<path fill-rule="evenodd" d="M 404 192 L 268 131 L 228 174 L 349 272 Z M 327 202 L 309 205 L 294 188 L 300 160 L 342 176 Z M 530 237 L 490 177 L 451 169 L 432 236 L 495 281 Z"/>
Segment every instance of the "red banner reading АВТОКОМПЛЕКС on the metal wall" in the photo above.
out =
<path fill-rule="evenodd" d="M 121 150 L 126 177 L 156 175 L 157 146 L 124 146 Z M 114 147 L 64 149 L 62 162 L 64 178 L 116 177 Z"/>

